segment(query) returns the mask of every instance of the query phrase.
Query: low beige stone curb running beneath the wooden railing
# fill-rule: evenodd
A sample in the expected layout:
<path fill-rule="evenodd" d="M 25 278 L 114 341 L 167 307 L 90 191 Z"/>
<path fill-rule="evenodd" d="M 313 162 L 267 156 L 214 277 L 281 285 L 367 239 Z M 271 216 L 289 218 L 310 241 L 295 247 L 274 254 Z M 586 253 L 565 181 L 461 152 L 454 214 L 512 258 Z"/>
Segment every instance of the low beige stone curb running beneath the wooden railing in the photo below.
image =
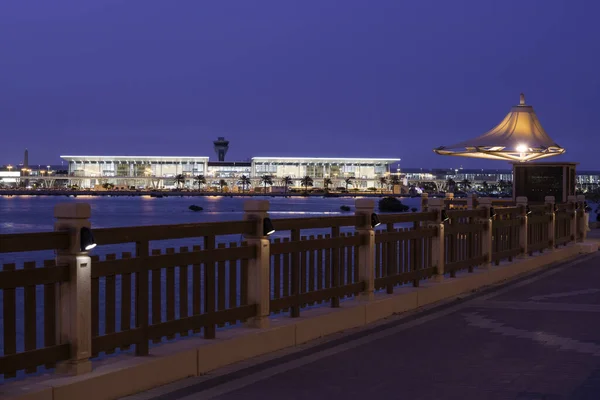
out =
<path fill-rule="evenodd" d="M 88 374 L 53 374 L 4 384 L 0 387 L 0 398 L 119 398 L 183 378 L 203 375 L 236 362 L 297 346 L 336 332 L 361 327 L 393 314 L 456 298 L 592 250 L 598 250 L 598 243 L 570 244 L 553 252 L 544 252 L 513 263 L 477 268 L 473 273 L 461 273 L 456 278 L 422 282 L 418 288 L 399 288 L 391 295 L 377 293 L 371 301 L 349 300 L 343 302 L 340 308 L 303 310 L 299 318 L 274 316 L 270 318 L 270 327 L 267 329 L 240 326 L 219 332 L 213 340 L 190 338 L 157 346 L 150 350 L 149 357 L 113 356 L 93 362 L 93 371 Z"/>

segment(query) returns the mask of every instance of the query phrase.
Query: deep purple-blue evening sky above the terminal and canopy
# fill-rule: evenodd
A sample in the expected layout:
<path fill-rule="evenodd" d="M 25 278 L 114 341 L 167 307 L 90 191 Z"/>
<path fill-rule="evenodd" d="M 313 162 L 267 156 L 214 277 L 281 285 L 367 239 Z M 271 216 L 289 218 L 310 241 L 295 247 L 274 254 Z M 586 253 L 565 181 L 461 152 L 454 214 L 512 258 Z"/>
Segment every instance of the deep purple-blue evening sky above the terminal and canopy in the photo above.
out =
<path fill-rule="evenodd" d="M 600 169 L 597 0 L 0 1 L 0 164 L 60 154 L 437 156 L 525 92 Z M 555 158 L 555 160 L 558 160 Z"/>

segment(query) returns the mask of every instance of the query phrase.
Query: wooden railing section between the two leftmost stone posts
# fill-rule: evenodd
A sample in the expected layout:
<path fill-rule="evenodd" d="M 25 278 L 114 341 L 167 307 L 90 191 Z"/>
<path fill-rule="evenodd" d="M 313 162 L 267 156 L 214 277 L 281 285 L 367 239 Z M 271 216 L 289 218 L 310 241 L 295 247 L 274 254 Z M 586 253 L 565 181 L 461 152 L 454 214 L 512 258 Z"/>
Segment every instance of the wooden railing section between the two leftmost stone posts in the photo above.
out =
<path fill-rule="evenodd" d="M 244 242 L 216 242 L 218 236 L 250 232 L 249 221 L 94 231 L 99 246 L 133 242 L 136 255 L 92 259 L 93 355 L 133 344 L 136 354 L 145 355 L 148 340 L 157 343 L 192 331 L 214 338 L 216 326 L 253 316 L 246 296 L 247 263 L 256 249 Z M 183 238 L 196 238 L 199 244 L 179 251 L 150 247 L 151 242 Z"/>

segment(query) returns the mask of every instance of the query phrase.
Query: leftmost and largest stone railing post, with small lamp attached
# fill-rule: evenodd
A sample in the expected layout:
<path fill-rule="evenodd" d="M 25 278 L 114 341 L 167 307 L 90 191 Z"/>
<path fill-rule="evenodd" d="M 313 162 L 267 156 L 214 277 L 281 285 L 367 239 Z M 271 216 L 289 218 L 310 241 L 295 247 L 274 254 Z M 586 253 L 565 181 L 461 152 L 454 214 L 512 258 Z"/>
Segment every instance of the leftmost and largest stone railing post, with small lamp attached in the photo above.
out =
<path fill-rule="evenodd" d="M 69 266 L 69 281 L 59 290 L 58 341 L 71 345 L 71 358 L 57 365 L 58 372 L 84 374 L 92 370 L 91 259 L 81 251 L 81 228 L 90 228 L 87 203 L 60 203 L 54 207 L 55 231 L 67 231 L 68 249 L 57 250 L 56 265 Z"/>

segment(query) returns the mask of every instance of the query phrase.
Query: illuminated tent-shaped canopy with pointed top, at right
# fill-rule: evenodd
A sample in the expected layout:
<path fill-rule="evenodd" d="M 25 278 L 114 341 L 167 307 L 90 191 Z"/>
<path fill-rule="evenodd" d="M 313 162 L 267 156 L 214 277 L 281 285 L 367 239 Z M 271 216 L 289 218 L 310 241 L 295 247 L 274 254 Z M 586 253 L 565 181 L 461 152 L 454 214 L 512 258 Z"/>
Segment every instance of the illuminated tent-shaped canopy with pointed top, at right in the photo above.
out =
<path fill-rule="evenodd" d="M 514 106 L 492 130 L 474 139 L 438 147 L 433 151 L 448 156 L 531 161 L 563 154 L 565 149 L 544 131 L 533 107 L 525 104 L 525 95 L 521 93 L 520 104 Z"/>

